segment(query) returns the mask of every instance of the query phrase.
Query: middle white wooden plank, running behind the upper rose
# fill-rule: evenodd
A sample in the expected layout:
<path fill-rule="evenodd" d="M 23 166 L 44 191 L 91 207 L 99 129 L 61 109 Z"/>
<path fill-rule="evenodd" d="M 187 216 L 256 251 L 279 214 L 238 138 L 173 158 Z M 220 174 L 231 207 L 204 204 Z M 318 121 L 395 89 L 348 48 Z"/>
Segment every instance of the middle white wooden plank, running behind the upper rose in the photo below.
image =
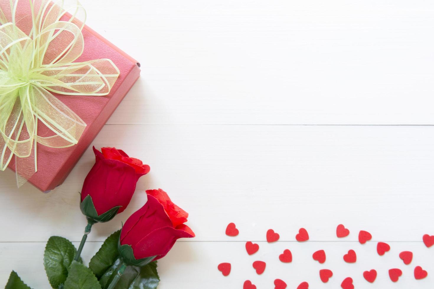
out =
<path fill-rule="evenodd" d="M 311 240 L 336 240 L 345 224 L 374 240 L 420 241 L 434 234 L 434 127 L 430 126 L 164 126 L 108 125 L 94 144 L 116 146 L 144 160 L 151 172 L 138 182 L 130 206 L 97 224 L 89 240 L 104 240 L 161 187 L 190 213 L 195 240 L 265 240 L 269 228 L 295 240 L 305 227 Z M 85 227 L 78 203 L 94 163 L 89 148 L 66 182 L 43 195 L 15 188 L 2 174 L 0 241 L 79 241 Z M 31 222 L 29 222 L 31 218 Z M 20 228 L 20 230 L 17 230 Z"/>

